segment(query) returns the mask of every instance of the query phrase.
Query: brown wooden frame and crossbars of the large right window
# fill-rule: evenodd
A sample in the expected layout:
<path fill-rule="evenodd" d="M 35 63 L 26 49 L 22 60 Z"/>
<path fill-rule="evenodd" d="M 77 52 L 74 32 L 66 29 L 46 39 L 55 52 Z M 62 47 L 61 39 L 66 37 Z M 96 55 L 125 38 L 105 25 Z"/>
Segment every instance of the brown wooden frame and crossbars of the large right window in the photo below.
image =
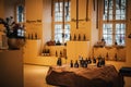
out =
<path fill-rule="evenodd" d="M 116 4 L 116 0 L 112 0 Z M 103 20 L 103 15 L 104 15 L 104 0 L 102 0 L 100 2 L 100 5 L 99 5 L 99 36 L 98 38 L 102 39 L 103 38 L 103 25 L 104 24 L 112 24 L 112 45 L 108 45 L 106 47 L 112 47 L 115 46 L 115 39 L 116 39 L 116 24 L 126 24 L 126 34 L 124 34 L 124 45 L 118 45 L 118 46 L 122 46 L 122 47 L 126 47 L 126 44 L 127 44 L 127 40 L 126 40 L 126 37 L 127 37 L 127 28 L 128 28 L 128 23 L 127 23 L 127 18 L 128 18 L 128 1 L 126 2 L 126 20 L 116 20 L 116 8 L 114 8 L 115 10 L 112 11 L 112 20 L 111 21 L 107 21 L 107 20 Z M 116 5 L 114 5 L 116 7 Z"/>

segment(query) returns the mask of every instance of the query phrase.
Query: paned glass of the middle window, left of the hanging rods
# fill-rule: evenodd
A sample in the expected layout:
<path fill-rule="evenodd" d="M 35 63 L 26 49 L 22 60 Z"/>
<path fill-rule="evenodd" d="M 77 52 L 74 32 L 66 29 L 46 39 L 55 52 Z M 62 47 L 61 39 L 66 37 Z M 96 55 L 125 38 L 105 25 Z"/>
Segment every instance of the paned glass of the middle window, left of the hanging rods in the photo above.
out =
<path fill-rule="evenodd" d="M 64 8 L 64 16 L 63 16 Z M 63 25 L 64 17 L 64 25 Z M 70 24 L 67 22 L 70 21 L 70 2 L 55 2 L 55 40 L 60 42 L 66 42 L 70 39 Z M 59 24 L 58 24 L 59 23 Z M 63 28 L 64 26 L 64 28 Z"/>

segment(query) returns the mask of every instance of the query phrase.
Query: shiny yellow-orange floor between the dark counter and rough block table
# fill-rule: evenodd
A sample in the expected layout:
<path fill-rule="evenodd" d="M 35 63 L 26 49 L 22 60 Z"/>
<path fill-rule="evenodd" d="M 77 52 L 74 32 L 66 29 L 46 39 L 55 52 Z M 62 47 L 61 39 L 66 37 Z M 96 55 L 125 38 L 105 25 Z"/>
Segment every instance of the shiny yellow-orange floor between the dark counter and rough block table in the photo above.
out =
<path fill-rule="evenodd" d="M 55 87 L 46 84 L 48 66 L 24 65 L 24 87 Z"/>

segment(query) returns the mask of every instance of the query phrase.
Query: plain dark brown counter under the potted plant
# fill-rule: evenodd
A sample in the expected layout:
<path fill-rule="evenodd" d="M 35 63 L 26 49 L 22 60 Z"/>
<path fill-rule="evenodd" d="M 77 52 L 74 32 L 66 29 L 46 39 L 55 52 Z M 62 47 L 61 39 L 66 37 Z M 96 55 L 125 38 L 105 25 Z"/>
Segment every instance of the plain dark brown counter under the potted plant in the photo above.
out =
<path fill-rule="evenodd" d="M 22 54 L 22 50 L 0 52 L 0 87 L 23 87 Z"/>

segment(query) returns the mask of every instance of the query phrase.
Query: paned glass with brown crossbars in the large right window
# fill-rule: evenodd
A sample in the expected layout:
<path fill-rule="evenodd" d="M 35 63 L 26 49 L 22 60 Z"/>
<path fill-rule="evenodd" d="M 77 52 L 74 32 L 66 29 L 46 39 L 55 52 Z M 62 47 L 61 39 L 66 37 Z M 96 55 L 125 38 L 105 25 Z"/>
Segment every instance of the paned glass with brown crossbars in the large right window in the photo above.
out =
<path fill-rule="evenodd" d="M 106 45 L 124 45 L 127 0 L 104 0 L 103 37 Z"/>

